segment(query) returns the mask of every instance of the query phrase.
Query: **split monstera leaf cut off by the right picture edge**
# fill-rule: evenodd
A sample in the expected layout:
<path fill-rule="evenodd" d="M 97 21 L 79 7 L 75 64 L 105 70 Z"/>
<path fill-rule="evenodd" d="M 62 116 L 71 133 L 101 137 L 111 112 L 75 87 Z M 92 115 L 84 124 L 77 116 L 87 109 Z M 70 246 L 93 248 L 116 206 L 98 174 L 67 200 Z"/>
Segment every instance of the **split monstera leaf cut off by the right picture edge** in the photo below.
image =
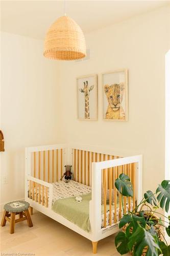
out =
<path fill-rule="evenodd" d="M 158 194 L 157 200 L 160 202 L 160 207 L 163 209 L 165 206 L 165 211 L 168 212 L 170 203 L 170 180 L 163 180 L 161 185 L 159 184 L 156 189 Z"/>

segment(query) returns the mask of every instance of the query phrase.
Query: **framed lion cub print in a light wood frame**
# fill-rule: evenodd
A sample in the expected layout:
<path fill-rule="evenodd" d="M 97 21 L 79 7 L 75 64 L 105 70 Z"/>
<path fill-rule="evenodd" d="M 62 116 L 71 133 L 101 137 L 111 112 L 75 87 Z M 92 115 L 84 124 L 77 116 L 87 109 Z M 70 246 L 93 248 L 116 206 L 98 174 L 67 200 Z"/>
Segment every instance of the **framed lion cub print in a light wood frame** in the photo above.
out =
<path fill-rule="evenodd" d="M 103 119 L 128 121 L 128 70 L 102 74 Z"/>

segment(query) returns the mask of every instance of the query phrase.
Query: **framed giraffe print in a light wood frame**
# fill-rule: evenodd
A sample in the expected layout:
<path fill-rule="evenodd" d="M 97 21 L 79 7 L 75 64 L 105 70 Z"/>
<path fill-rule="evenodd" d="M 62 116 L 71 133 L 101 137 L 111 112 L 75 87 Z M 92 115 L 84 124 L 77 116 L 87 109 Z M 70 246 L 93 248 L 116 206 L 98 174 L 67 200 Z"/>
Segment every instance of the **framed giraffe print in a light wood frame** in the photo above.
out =
<path fill-rule="evenodd" d="M 98 79 L 97 75 L 76 78 L 77 118 L 98 120 Z"/>

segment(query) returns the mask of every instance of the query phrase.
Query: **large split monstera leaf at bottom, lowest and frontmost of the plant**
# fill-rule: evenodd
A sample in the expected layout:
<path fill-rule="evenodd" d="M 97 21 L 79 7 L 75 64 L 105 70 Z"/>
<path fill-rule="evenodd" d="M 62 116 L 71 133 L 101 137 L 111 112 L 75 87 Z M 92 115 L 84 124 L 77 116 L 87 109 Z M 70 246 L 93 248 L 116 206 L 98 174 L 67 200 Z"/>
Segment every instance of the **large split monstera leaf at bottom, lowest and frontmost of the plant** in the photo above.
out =
<path fill-rule="evenodd" d="M 158 252 L 161 252 L 156 235 L 151 234 L 142 227 L 137 227 L 136 231 L 129 238 L 128 248 L 129 250 L 133 248 L 133 255 L 139 256 L 142 254 L 145 246 L 148 246 L 147 256 L 158 256 Z"/>

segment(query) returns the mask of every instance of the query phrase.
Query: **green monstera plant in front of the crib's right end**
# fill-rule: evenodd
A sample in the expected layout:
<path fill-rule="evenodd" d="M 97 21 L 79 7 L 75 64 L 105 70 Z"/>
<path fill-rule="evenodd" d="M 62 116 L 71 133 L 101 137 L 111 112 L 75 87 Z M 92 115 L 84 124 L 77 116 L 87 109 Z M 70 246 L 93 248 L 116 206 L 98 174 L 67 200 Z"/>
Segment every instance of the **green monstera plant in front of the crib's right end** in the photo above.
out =
<path fill-rule="evenodd" d="M 115 186 L 122 195 L 124 211 L 123 197 L 133 197 L 132 183 L 127 175 L 120 174 L 119 178 L 115 180 Z M 123 231 L 119 231 L 115 237 L 117 251 L 120 254 L 130 251 L 134 256 L 158 256 L 160 254 L 170 256 L 170 245 L 167 244 L 161 231 L 161 227 L 164 227 L 170 237 L 170 216 L 166 217 L 157 211 L 161 207 L 168 212 L 169 203 L 170 181 L 164 180 L 155 193 L 151 190 L 144 193 L 141 202 L 128 214 L 125 214 L 124 211 L 123 218 L 119 222 L 119 228 L 123 228 Z M 150 207 L 149 210 L 143 210 L 141 208 L 143 205 Z M 155 217 L 155 215 L 160 215 L 162 218 Z M 161 241 L 160 233 L 164 241 Z M 143 253 L 144 249 L 145 252 Z"/>

